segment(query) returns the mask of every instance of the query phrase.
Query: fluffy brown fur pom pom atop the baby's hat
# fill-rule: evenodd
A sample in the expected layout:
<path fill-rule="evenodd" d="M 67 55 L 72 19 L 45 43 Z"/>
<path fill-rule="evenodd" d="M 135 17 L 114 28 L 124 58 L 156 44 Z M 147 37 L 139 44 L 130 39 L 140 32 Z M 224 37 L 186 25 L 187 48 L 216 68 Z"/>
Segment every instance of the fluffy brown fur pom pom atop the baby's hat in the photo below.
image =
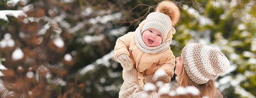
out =
<path fill-rule="evenodd" d="M 162 1 L 157 5 L 156 12 L 164 13 L 172 20 L 172 26 L 175 26 L 180 19 L 179 8 L 170 1 Z"/>

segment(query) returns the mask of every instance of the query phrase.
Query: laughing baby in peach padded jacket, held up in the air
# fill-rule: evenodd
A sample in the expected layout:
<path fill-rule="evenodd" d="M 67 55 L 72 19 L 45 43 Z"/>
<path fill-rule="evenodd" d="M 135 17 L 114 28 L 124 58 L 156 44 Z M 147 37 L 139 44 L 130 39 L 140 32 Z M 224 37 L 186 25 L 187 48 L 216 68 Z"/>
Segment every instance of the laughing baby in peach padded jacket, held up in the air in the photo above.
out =
<path fill-rule="evenodd" d="M 179 8 L 173 2 L 163 1 L 158 4 L 156 12 L 148 14 L 135 31 L 117 39 L 114 59 L 126 70 L 131 70 L 135 64 L 140 85 L 144 84 L 145 71 L 154 63 L 159 64 L 158 69 L 165 71 L 166 75 L 162 78 L 164 83 L 173 77 L 175 56 L 169 45 L 176 32 L 173 26 L 179 18 Z M 132 51 L 132 59 L 129 51 Z"/>

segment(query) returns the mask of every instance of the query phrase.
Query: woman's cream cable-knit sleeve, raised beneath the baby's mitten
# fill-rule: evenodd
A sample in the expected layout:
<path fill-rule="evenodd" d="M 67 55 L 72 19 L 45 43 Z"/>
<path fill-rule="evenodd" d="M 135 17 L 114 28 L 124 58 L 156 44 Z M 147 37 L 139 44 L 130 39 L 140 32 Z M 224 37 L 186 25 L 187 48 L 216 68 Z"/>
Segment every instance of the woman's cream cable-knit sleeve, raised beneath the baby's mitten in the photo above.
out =
<path fill-rule="evenodd" d="M 140 95 L 143 93 L 143 87 L 139 86 L 138 83 L 138 72 L 136 69 L 132 70 L 123 70 L 123 84 L 119 91 L 119 98 L 140 98 Z M 150 98 L 157 98 L 159 95 L 156 91 L 153 91 L 150 95 Z"/>

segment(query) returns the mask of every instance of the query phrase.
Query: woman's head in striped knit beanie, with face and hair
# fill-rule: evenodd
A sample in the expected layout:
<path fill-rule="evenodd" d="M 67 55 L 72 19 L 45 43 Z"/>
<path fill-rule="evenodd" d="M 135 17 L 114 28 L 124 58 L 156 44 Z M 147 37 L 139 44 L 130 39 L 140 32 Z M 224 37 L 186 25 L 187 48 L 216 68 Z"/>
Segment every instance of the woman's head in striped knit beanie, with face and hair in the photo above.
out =
<path fill-rule="evenodd" d="M 229 61 L 220 51 L 202 44 L 190 44 L 183 48 L 181 57 L 176 58 L 175 74 L 180 86 L 196 86 L 199 97 L 222 97 L 215 81 L 229 67 Z"/>

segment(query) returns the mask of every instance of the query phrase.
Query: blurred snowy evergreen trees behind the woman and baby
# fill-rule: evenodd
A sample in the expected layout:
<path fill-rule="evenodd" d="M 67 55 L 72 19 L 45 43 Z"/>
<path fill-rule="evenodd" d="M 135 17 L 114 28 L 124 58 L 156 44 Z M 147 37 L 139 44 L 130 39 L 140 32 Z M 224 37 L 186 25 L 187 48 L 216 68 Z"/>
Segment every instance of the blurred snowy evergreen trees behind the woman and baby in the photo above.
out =
<path fill-rule="evenodd" d="M 115 41 L 159 2 L 1 0 L 0 97 L 118 97 Z M 181 11 L 170 45 L 175 56 L 195 42 L 221 50 L 231 65 L 216 86 L 226 97 L 255 98 L 255 1 L 174 2 Z"/>

